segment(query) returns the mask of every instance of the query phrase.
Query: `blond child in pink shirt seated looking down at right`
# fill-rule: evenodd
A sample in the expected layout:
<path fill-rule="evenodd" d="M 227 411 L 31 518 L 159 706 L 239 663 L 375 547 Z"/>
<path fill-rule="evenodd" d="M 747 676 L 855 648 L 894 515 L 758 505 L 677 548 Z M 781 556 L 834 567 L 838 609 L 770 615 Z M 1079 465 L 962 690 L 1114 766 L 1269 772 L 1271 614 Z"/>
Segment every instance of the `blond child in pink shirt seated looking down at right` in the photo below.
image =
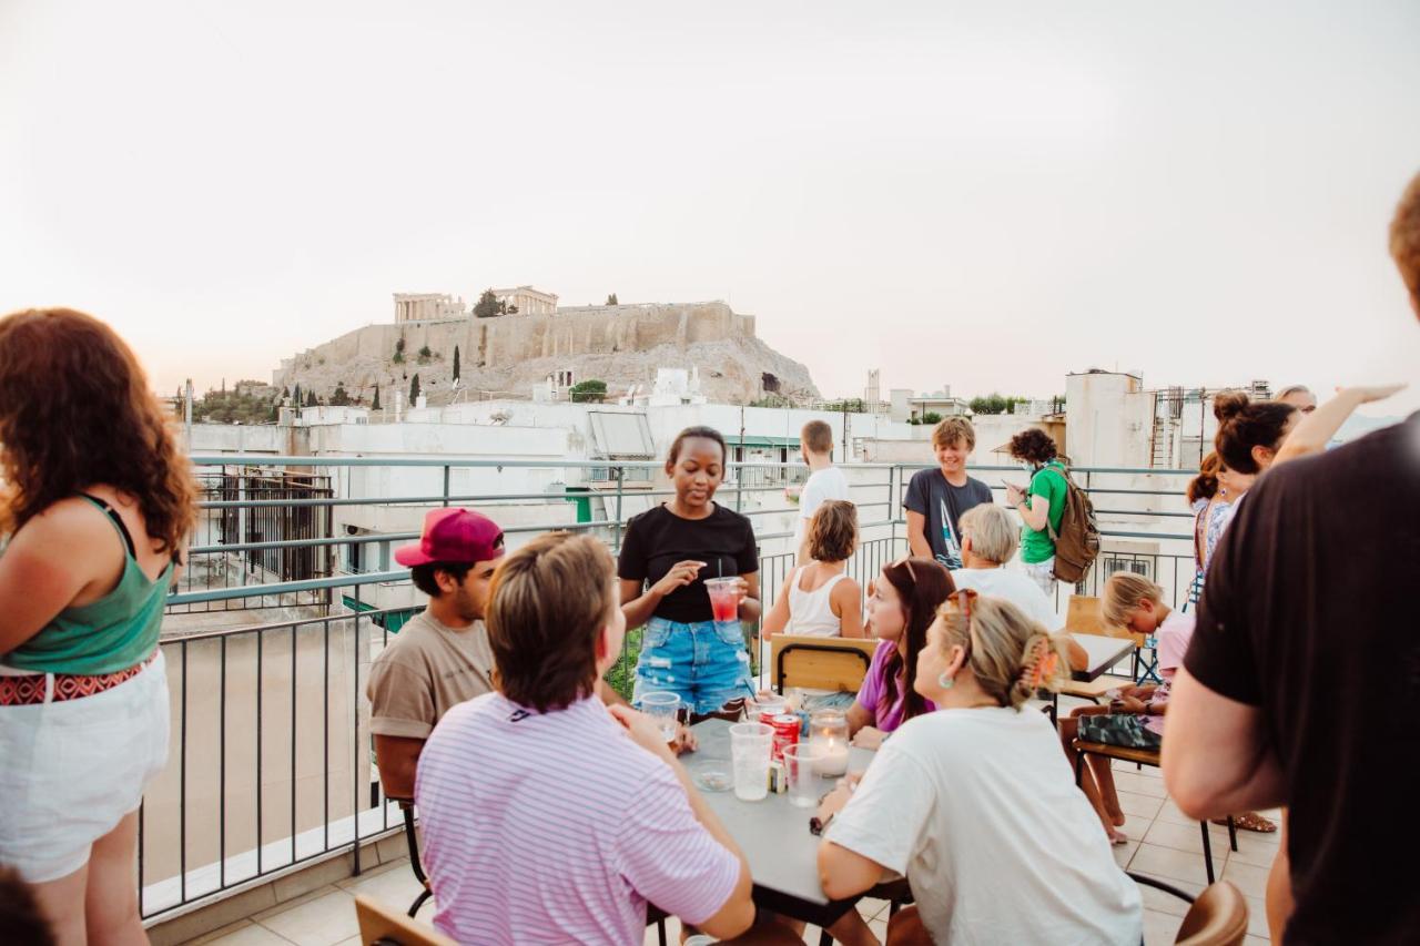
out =
<path fill-rule="evenodd" d="M 1193 636 L 1193 616 L 1173 611 L 1163 602 L 1163 588 L 1132 571 L 1116 571 L 1105 582 L 1100 595 L 1105 624 L 1159 639 L 1159 686 L 1126 686 L 1109 706 L 1081 706 L 1061 720 L 1061 744 L 1074 760 L 1071 741 L 1076 736 L 1088 743 L 1105 743 L 1126 749 L 1159 749 L 1163 741 L 1163 714 L 1169 709 L 1169 686 L 1174 670 L 1183 663 Z M 1115 791 L 1110 760 L 1088 756 L 1089 766 L 1081 773 L 1081 788 L 1095 807 L 1105 834 L 1115 844 L 1129 838 L 1119 828 L 1125 812 Z M 1093 774 L 1092 774 L 1093 773 Z"/>

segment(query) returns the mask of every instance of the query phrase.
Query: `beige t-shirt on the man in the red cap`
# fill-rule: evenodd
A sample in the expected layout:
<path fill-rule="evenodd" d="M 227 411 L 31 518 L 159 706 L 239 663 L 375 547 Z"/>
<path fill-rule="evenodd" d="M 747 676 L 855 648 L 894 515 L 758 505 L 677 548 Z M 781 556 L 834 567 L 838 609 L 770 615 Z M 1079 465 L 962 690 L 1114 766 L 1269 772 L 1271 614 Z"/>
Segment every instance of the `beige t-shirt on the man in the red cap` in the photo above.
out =
<path fill-rule="evenodd" d="M 376 736 L 427 739 L 444 713 L 493 689 L 491 672 L 483 621 L 460 631 L 420 611 L 369 668 L 369 729 Z"/>

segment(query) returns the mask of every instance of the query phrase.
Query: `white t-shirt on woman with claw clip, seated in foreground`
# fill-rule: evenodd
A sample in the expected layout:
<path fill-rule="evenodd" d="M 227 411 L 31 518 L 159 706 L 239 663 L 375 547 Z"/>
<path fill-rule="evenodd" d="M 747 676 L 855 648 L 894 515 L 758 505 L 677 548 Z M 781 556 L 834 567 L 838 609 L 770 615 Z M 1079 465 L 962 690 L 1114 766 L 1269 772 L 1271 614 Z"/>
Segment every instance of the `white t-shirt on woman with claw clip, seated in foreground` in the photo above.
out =
<path fill-rule="evenodd" d="M 937 943 L 1119 943 L 1143 936 L 1044 713 L 947 709 L 903 723 L 828 839 L 905 874 Z"/>

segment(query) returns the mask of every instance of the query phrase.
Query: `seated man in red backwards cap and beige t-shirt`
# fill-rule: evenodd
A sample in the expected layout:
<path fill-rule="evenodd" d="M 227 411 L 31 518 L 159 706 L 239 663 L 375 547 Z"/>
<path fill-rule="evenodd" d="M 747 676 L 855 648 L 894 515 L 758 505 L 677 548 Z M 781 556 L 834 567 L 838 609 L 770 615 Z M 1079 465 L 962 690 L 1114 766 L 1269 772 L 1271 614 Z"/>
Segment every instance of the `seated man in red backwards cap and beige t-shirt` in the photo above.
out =
<path fill-rule="evenodd" d="M 413 797 L 419 753 L 440 717 L 493 689 L 483 615 L 501 557 L 503 530 L 467 509 L 430 510 L 419 543 L 395 550 L 429 607 L 375 658 L 365 689 L 381 781 L 392 798 Z"/>

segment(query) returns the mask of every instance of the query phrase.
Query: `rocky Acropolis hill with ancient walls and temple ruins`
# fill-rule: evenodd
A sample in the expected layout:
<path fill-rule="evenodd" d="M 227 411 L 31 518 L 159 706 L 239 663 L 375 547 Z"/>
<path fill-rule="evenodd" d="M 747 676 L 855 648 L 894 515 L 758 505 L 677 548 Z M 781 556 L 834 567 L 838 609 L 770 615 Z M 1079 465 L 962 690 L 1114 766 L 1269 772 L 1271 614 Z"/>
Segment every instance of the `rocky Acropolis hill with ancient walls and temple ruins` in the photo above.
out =
<path fill-rule="evenodd" d="M 525 398 L 548 378 L 569 376 L 605 381 L 618 393 L 633 384 L 649 386 L 657 368 L 699 366 L 701 391 L 713 402 L 818 396 L 808 369 L 760 341 L 754 315 L 740 315 L 724 303 L 558 307 L 477 318 L 462 314 L 462 301 L 427 298 L 396 295 L 399 321 L 366 325 L 285 358 L 273 384 L 293 391 L 300 385 L 302 393 L 327 399 L 341 384 L 352 401 L 366 405 L 378 384 L 389 406 L 417 374 L 430 403 L 449 403 L 457 345 L 460 389 L 469 392 Z M 402 361 L 396 361 L 400 339 Z"/>

